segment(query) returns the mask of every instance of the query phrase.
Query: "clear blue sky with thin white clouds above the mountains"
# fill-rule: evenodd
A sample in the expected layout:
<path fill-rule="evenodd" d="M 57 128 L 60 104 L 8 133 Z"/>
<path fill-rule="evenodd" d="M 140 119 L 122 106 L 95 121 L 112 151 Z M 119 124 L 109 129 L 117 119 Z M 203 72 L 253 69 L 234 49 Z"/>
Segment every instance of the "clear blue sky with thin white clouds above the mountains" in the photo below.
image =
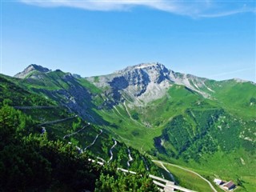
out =
<path fill-rule="evenodd" d="M 142 62 L 256 82 L 254 1 L 1 1 L 2 74 L 82 77 Z"/>

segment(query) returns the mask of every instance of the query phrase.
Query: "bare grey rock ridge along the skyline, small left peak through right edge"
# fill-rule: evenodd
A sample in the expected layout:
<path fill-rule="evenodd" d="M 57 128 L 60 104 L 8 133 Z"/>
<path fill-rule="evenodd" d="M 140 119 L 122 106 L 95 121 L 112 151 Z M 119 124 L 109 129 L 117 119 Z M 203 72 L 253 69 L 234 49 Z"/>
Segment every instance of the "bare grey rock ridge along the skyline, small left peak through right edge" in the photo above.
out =
<path fill-rule="evenodd" d="M 32 70 L 30 69 L 31 66 Z M 112 74 L 93 76 L 89 78 L 81 78 L 78 74 L 64 73 L 61 70 L 48 70 L 43 66 L 30 65 L 14 77 L 24 79 L 42 79 L 42 81 L 46 81 L 46 77 L 50 77 L 49 75 L 54 72 L 58 72 L 59 75 L 64 75 L 61 80 L 62 82 L 55 83 L 55 86 L 57 85 L 56 87 L 58 87 L 58 83 L 66 86 L 66 82 L 69 82 L 68 79 L 71 80 L 71 78 L 74 78 L 72 82 L 86 81 L 87 85 L 90 83 L 97 87 L 97 89 L 101 90 L 102 98 L 106 98 L 98 108 L 107 106 L 110 109 L 120 103 L 124 103 L 125 101 L 126 105 L 130 107 L 145 106 L 147 103 L 165 97 L 166 91 L 174 85 L 184 86 L 186 89 L 194 92 L 195 94 L 200 94 L 204 98 L 216 99 L 214 89 L 217 87 L 213 88 L 212 85 L 222 84 L 222 82 L 224 83 L 226 81 L 234 81 L 238 83 L 246 82 L 236 79 L 215 81 L 207 78 L 200 78 L 193 74 L 182 74 L 174 72 L 173 70 L 168 70 L 166 66 L 159 62 L 140 63 L 135 66 L 127 66 L 123 70 L 114 71 Z M 50 74 L 46 75 L 48 73 Z M 51 83 L 51 79 L 56 78 L 54 76 L 55 75 L 53 74 L 53 77 L 50 77 L 47 81 Z M 254 82 L 250 83 L 254 84 Z M 79 87 L 78 90 L 81 90 Z M 63 91 L 66 90 L 64 89 Z"/>

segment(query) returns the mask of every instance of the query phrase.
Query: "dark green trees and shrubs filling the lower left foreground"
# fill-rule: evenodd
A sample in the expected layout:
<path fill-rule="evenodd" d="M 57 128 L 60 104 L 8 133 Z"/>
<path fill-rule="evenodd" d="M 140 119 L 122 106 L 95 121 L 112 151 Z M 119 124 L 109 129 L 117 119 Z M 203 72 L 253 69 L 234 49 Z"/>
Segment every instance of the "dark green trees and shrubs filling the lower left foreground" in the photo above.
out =
<path fill-rule="evenodd" d="M 146 172 L 99 166 L 74 145 L 37 134 L 26 114 L 0 106 L 0 191 L 158 191 Z"/>

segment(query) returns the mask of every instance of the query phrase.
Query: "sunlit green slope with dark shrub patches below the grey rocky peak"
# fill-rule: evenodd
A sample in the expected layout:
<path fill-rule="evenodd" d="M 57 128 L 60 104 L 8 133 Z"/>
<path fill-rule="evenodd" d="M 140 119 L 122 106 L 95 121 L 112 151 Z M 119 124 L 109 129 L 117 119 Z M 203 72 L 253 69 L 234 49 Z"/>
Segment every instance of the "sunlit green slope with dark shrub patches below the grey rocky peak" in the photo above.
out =
<path fill-rule="evenodd" d="M 98 113 L 113 123 L 108 129 L 130 146 L 169 162 L 206 170 L 209 177 L 218 174 L 234 182 L 243 179 L 240 190 L 250 191 L 256 178 L 252 171 L 256 168 L 255 86 L 227 83 L 225 91 L 207 86 L 215 90 L 213 98 L 174 85 L 166 97 L 145 107 L 128 106 L 132 118 L 136 113 L 133 119 L 122 104 L 117 110 Z"/>

